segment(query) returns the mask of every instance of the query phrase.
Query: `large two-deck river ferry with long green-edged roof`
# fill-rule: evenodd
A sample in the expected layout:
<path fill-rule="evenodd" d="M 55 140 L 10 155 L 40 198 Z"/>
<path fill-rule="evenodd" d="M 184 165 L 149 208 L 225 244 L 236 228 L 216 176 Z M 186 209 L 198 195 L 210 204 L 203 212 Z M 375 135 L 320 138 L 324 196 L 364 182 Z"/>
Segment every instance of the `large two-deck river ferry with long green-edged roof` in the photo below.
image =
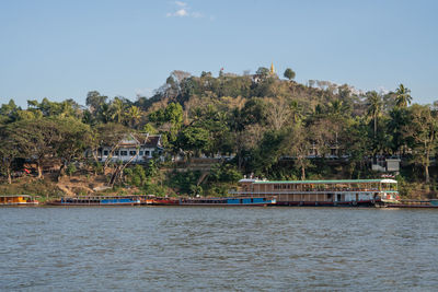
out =
<path fill-rule="evenodd" d="M 244 178 L 230 195 L 275 197 L 278 206 L 384 206 L 399 201 L 394 179 L 264 180 Z"/>

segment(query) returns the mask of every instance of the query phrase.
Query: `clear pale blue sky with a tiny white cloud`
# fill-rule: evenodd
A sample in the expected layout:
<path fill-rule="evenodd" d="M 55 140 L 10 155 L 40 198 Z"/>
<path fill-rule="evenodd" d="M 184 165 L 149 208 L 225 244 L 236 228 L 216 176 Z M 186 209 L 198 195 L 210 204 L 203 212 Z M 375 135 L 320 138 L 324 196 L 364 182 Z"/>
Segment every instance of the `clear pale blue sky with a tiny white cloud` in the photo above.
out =
<path fill-rule="evenodd" d="M 0 104 L 97 90 L 131 101 L 172 70 L 254 72 L 438 100 L 438 1 L 2 0 Z"/>

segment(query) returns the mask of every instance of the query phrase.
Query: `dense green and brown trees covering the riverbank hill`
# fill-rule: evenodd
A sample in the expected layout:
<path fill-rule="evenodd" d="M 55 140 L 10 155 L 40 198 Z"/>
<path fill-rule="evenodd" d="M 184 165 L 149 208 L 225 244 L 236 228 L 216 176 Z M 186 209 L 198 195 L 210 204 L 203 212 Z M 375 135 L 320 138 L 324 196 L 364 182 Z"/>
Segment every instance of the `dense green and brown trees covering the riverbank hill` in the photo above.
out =
<path fill-rule="evenodd" d="M 23 163 L 36 177 L 58 165 L 57 177 L 85 170 L 110 174 L 115 186 L 149 192 L 223 194 L 243 175 L 276 179 L 377 177 L 377 156 L 402 157 L 402 182 L 424 182 L 435 189 L 438 108 L 413 104 L 410 90 L 361 93 L 344 84 L 293 81 L 260 68 L 255 74 L 220 71 L 200 77 L 173 71 L 150 98 L 136 102 L 89 92 L 85 106 L 73 100 L 11 100 L 0 108 L 0 163 L 4 183 L 13 183 Z M 85 149 L 115 144 L 129 131 L 161 133 L 166 162 L 124 167 L 83 157 Z M 310 155 L 313 154 L 313 155 Z M 172 171 L 174 157 L 221 157 L 204 175 Z M 80 167 L 78 162 L 82 162 Z M 120 167 L 118 167 L 119 170 Z M 108 179 L 110 182 L 110 179 Z"/>

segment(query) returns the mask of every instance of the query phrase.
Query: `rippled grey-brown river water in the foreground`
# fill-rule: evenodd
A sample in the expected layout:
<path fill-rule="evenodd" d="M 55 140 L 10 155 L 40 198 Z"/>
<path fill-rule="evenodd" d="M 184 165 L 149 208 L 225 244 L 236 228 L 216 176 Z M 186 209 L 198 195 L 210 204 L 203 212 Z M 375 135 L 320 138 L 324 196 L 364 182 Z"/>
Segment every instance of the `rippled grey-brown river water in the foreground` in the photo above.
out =
<path fill-rule="evenodd" d="M 0 208 L 1 291 L 436 290 L 438 210 Z"/>

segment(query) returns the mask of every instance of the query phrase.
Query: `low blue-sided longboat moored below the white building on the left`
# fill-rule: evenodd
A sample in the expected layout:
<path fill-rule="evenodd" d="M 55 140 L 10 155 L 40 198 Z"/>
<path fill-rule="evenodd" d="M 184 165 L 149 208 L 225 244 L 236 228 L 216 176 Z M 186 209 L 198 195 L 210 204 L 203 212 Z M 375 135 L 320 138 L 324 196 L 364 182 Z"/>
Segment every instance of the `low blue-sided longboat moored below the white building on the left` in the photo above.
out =
<path fill-rule="evenodd" d="M 65 197 L 49 202 L 51 206 L 136 206 L 140 205 L 138 196 L 79 196 Z"/>

